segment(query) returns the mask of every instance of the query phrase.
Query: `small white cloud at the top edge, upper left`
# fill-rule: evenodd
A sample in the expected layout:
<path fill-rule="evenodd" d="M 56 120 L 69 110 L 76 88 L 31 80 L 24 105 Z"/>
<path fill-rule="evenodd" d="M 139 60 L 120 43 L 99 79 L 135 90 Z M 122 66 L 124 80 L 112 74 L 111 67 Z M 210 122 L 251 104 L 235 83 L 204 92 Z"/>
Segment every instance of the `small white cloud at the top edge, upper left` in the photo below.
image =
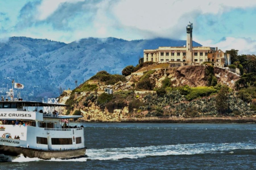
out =
<path fill-rule="evenodd" d="M 79 1 L 84 1 L 84 0 L 43 0 L 42 3 L 37 7 L 38 10 L 38 15 L 37 19 L 38 20 L 45 20 L 48 16 L 53 14 L 55 10 L 59 7 L 61 3 L 76 3 Z"/>

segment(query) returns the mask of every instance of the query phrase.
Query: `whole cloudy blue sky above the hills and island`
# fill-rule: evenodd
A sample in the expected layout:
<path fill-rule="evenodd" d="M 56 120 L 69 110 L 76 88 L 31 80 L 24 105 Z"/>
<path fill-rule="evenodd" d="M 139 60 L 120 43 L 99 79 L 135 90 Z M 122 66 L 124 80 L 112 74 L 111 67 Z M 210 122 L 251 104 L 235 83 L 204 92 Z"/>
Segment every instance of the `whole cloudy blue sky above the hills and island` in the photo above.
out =
<path fill-rule="evenodd" d="M 0 42 L 12 36 L 69 43 L 87 37 L 193 40 L 256 54 L 255 0 L 0 0 Z M 168 44 L 166 44 L 168 46 Z"/>

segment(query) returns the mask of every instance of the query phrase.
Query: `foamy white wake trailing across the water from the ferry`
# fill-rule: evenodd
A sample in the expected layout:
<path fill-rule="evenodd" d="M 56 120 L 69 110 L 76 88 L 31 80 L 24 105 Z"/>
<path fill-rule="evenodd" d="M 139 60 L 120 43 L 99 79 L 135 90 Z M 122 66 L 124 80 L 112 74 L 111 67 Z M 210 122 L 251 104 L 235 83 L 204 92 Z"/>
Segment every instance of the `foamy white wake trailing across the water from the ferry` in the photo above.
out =
<path fill-rule="evenodd" d="M 236 150 L 255 150 L 256 145 L 252 143 L 196 143 L 196 144 L 177 144 L 163 146 L 146 147 L 127 147 L 127 148 L 103 148 L 87 149 L 83 158 L 62 160 L 52 158 L 50 160 L 41 160 L 39 158 L 25 158 L 23 155 L 18 157 L 5 156 L 8 162 L 32 162 L 32 161 L 68 161 L 85 162 L 89 160 L 120 160 L 124 158 L 136 159 L 147 156 L 168 156 L 168 155 L 193 155 L 193 154 L 236 154 Z M 254 152 L 253 152 L 254 153 Z M 0 155 L 1 160 L 1 155 Z M 6 161 L 5 161 L 6 162 Z"/>

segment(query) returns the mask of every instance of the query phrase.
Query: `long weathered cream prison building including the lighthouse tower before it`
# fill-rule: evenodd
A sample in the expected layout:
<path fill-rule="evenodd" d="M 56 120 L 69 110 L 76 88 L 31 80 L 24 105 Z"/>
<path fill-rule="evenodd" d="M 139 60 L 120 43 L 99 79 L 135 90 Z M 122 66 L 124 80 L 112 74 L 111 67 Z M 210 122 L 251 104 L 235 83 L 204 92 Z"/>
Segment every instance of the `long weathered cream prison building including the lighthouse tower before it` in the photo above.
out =
<path fill-rule="evenodd" d="M 218 67 L 230 65 L 230 55 L 225 54 L 222 50 L 218 50 L 218 47 L 192 47 L 193 24 L 189 22 L 186 28 L 186 47 L 159 47 L 154 50 L 144 50 L 144 62 L 180 62 L 180 65 L 193 65 L 208 61 Z"/>

